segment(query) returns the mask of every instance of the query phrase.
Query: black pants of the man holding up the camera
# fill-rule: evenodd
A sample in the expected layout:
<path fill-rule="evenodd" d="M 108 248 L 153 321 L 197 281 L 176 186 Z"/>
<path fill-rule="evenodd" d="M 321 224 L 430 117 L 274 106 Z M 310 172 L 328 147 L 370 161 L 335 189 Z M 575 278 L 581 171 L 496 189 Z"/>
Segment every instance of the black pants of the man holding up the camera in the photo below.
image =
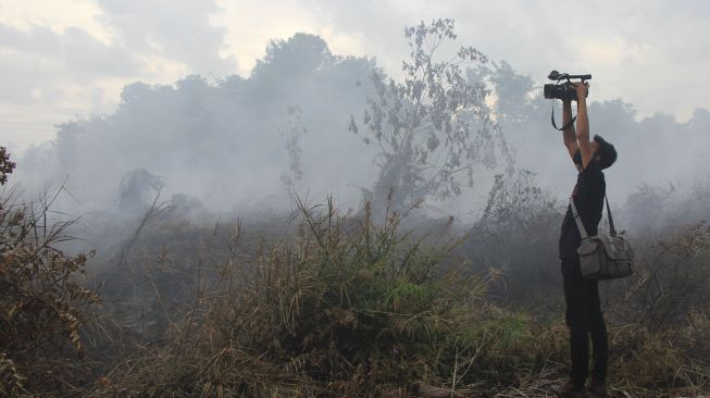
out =
<path fill-rule="evenodd" d="M 570 328 L 570 355 L 572 371 L 570 377 L 576 387 L 582 387 L 589 374 L 589 337 L 594 368 L 591 378 L 605 382 L 609 361 L 607 326 L 601 314 L 599 285 L 585 281 L 578 261 L 562 260 L 564 278 L 565 320 Z"/>

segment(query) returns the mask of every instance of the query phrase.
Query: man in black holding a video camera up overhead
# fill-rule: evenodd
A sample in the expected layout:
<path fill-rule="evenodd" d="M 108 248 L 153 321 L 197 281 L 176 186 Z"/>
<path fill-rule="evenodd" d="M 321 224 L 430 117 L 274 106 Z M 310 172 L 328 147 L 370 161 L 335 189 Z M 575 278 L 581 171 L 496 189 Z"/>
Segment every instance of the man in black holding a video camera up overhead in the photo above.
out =
<path fill-rule="evenodd" d="M 589 119 L 587 116 L 586 97 L 589 85 L 576 84 L 577 120 L 575 128 L 572 120 L 571 101 L 563 101 L 563 123 L 569 125 L 562 133 L 575 167 L 580 172 L 572 192 L 572 200 L 577 208 L 582 222 L 589 236 L 597 234 L 606 195 L 605 175 L 601 172 L 616 160 L 616 151 L 603 138 L 595 136 L 589 139 Z M 589 375 L 589 337 L 591 337 L 593 369 L 589 390 L 596 397 L 606 397 L 606 378 L 608 362 L 607 328 L 601 314 L 599 288 L 597 282 L 585 281 L 580 271 L 577 248 L 582 237 L 568 208 L 560 232 L 560 260 L 564 279 L 565 320 L 570 329 L 570 356 L 572 369 L 570 380 L 556 388 L 561 397 L 578 397 Z"/>

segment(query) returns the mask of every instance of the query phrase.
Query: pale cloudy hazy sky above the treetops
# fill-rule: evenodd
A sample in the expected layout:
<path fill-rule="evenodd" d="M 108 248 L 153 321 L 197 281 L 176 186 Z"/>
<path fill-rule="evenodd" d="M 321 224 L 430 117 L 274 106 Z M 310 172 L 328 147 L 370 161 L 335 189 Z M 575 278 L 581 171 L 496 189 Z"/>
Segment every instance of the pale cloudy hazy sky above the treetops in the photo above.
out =
<path fill-rule="evenodd" d="M 110 112 L 123 85 L 247 75 L 270 39 L 321 35 L 391 73 L 403 27 L 453 17 L 459 42 L 544 78 L 589 72 L 593 99 L 640 116 L 710 109 L 710 1 L 0 0 L 0 145 Z"/>

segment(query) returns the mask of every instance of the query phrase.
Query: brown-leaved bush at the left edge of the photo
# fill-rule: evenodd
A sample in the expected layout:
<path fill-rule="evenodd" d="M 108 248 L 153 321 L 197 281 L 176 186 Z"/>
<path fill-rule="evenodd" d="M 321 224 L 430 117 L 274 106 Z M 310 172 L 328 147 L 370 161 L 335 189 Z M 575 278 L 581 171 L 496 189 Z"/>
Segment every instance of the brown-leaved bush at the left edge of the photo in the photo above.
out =
<path fill-rule="evenodd" d="M 63 391 L 88 371 L 64 362 L 82 355 L 82 309 L 97 297 L 76 281 L 86 256 L 55 247 L 70 223 L 50 225 L 50 204 L 0 198 L 0 396 Z"/>

